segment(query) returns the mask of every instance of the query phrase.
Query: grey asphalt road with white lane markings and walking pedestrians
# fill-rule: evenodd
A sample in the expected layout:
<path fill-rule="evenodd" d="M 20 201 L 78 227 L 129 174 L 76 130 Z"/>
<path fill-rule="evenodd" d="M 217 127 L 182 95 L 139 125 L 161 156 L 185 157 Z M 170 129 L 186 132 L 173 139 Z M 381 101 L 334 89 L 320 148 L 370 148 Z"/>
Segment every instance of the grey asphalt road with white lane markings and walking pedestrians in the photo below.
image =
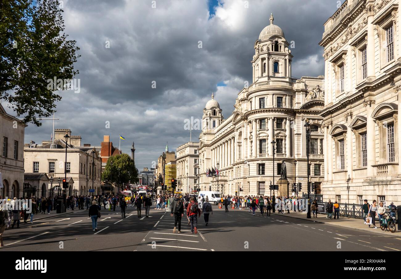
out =
<path fill-rule="evenodd" d="M 174 218 L 152 206 L 149 218 L 129 207 L 102 209 L 92 231 L 87 210 L 53 216 L 4 232 L 0 251 L 401 251 L 401 237 L 320 224 L 283 215 L 252 216 L 248 210 L 217 209 L 205 226 L 198 218 L 192 234 L 185 216 L 181 234 L 173 234 Z M 321 217 L 324 218 L 324 217 Z"/>

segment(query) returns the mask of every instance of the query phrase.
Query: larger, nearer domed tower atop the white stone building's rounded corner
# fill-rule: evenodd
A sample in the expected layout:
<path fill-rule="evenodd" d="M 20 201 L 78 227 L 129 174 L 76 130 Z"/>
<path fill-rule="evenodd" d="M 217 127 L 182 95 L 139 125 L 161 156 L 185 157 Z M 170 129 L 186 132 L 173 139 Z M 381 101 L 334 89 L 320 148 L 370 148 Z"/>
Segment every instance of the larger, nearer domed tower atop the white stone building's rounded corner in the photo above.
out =
<path fill-rule="evenodd" d="M 253 56 L 253 82 L 291 79 L 291 50 L 284 32 L 273 24 L 273 14 L 270 15 L 270 25 L 263 28 L 256 40 Z"/>

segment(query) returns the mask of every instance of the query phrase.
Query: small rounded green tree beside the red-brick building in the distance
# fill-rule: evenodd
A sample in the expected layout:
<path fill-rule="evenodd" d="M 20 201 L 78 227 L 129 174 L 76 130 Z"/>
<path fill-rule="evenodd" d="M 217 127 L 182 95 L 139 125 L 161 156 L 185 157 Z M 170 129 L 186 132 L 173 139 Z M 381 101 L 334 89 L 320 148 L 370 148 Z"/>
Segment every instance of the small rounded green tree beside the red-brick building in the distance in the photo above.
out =
<path fill-rule="evenodd" d="M 138 182 L 134 160 L 125 153 L 110 157 L 101 174 L 101 180 L 116 185 L 119 190 L 124 190 L 124 185 L 128 183 Z"/>

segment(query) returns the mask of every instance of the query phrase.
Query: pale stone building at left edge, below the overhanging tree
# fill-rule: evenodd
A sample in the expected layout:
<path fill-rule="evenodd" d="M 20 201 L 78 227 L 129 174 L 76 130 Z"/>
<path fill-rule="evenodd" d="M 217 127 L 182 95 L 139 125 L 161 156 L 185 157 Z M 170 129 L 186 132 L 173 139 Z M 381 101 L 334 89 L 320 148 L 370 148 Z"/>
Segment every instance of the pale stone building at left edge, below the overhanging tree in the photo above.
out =
<path fill-rule="evenodd" d="M 8 114 L 0 104 L 0 195 L 21 198 L 24 185 L 24 131 L 26 125 Z"/>

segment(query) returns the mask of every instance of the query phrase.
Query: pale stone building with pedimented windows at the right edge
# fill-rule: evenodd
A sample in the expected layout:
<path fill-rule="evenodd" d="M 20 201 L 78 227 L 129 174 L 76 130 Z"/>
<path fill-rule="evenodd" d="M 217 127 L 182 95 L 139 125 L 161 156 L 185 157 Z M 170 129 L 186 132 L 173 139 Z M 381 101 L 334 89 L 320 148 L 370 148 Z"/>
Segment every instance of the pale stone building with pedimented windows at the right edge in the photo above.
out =
<path fill-rule="evenodd" d="M 324 200 L 401 202 L 398 7 L 348 0 L 324 24 Z"/>

